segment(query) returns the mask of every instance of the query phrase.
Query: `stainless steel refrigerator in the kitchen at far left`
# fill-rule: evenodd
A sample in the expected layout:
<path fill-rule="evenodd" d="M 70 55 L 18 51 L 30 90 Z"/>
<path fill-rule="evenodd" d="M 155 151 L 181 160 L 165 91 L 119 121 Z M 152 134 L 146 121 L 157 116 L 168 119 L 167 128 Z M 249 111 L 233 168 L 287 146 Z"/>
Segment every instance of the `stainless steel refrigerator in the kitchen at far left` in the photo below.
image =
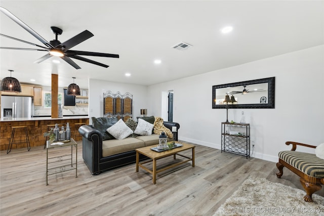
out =
<path fill-rule="evenodd" d="M 2 118 L 28 118 L 33 115 L 31 97 L 1 96 Z"/>

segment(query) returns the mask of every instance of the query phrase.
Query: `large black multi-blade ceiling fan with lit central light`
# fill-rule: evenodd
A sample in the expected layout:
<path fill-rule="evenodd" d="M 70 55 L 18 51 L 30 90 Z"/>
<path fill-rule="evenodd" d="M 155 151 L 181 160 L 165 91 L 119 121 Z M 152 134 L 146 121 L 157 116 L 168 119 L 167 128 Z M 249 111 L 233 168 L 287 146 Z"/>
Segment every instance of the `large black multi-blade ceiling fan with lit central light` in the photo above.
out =
<path fill-rule="evenodd" d="M 28 31 L 30 34 L 32 34 L 34 37 L 36 37 L 39 41 L 41 41 L 44 46 L 33 44 L 32 42 L 28 42 L 25 40 L 21 40 L 15 37 L 11 37 L 5 34 L 0 34 L 1 36 L 8 37 L 14 40 L 18 40 L 20 42 L 25 42 L 26 44 L 33 45 L 39 48 L 43 49 L 27 49 L 27 48 L 11 48 L 11 47 L 0 47 L 0 49 L 10 49 L 10 50 L 30 50 L 30 51 L 46 51 L 48 52 L 45 56 L 37 59 L 35 63 L 40 63 L 45 61 L 46 59 L 51 58 L 52 56 L 58 56 L 67 63 L 69 63 L 71 66 L 73 66 L 75 69 L 80 69 L 80 67 L 72 61 L 73 59 L 78 59 L 80 61 L 85 61 L 91 64 L 95 64 L 101 67 L 109 67 L 108 65 L 81 57 L 81 56 L 99 56 L 99 57 L 110 57 L 110 58 L 119 58 L 119 55 L 116 54 L 108 54 L 108 53 L 95 53 L 95 52 L 87 52 L 87 51 L 76 51 L 76 50 L 70 50 L 72 47 L 80 44 L 81 42 L 89 39 L 90 37 L 94 36 L 90 31 L 85 30 L 74 37 L 66 40 L 65 42 L 60 42 L 58 40 L 58 35 L 61 35 L 63 30 L 52 26 L 51 29 L 53 33 L 55 34 L 55 39 L 48 42 L 46 39 L 44 39 L 41 35 L 37 34 L 34 30 L 32 30 L 28 25 L 26 25 L 24 22 L 22 22 L 20 19 L 18 19 L 15 15 L 13 15 L 10 11 L 7 9 L 0 7 L 0 11 L 3 12 L 5 15 L 7 15 L 10 19 L 15 21 L 18 25 L 20 25 L 22 28 L 24 28 L 26 31 Z"/>

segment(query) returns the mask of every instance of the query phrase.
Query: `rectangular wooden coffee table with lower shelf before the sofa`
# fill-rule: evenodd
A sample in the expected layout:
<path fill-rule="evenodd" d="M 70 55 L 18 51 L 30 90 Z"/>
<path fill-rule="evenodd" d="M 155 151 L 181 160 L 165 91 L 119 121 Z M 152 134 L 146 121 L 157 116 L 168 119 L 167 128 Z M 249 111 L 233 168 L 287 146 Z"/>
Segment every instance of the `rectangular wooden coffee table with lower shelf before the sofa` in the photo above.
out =
<path fill-rule="evenodd" d="M 152 174 L 152 182 L 153 184 L 156 183 L 156 174 L 158 172 L 164 171 L 166 169 L 170 169 L 172 167 L 178 166 L 182 163 L 188 162 L 188 161 L 192 161 L 192 166 L 194 167 L 194 145 L 191 144 L 187 144 L 187 143 L 181 143 L 182 146 L 181 147 L 177 147 L 171 150 L 167 150 L 167 151 L 163 151 L 163 152 L 156 152 L 151 150 L 152 147 L 155 146 L 147 146 L 147 147 L 143 147 L 143 148 L 139 148 L 136 149 L 136 172 L 138 172 L 138 167 L 142 167 L 144 170 L 148 171 L 150 174 Z M 192 150 L 192 156 L 191 157 L 187 157 L 185 155 L 181 155 L 179 154 L 179 152 L 185 151 L 191 149 Z M 142 163 L 139 162 L 139 158 L 140 158 L 140 154 L 143 154 L 149 158 L 151 158 L 151 160 L 149 161 L 144 161 Z M 156 160 L 164 158 L 164 157 L 168 157 L 170 155 L 173 155 L 173 159 L 176 159 L 176 155 L 179 155 L 181 157 L 187 158 L 186 160 L 182 160 L 178 163 L 173 163 L 167 167 L 161 168 L 161 169 L 156 169 Z M 153 168 L 152 170 L 148 169 L 147 167 L 145 167 L 143 164 L 148 163 L 153 161 Z"/>

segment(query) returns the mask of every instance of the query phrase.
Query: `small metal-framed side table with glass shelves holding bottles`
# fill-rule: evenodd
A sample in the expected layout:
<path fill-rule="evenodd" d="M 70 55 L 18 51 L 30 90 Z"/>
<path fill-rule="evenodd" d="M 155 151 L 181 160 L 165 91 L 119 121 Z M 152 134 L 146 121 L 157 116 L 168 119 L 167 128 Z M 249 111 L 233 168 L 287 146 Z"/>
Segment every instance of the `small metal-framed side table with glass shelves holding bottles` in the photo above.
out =
<path fill-rule="evenodd" d="M 56 143 L 59 142 L 50 143 L 48 141 L 46 143 L 46 185 L 49 185 L 48 176 L 59 172 L 75 169 L 75 178 L 77 178 L 77 143 L 72 138 L 70 142 L 63 143 L 62 145 Z M 64 152 L 65 154 L 63 154 L 63 152 L 62 154 L 60 154 L 60 152 L 55 152 L 55 156 L 53 155 L 53 157 L 49 157 L 49 149 L 66 146 L 71 146 L 71 153 L 66 154 L 66 151 Z M 73 163 L 73 146 L 75 147 L 75 163 Z"/>

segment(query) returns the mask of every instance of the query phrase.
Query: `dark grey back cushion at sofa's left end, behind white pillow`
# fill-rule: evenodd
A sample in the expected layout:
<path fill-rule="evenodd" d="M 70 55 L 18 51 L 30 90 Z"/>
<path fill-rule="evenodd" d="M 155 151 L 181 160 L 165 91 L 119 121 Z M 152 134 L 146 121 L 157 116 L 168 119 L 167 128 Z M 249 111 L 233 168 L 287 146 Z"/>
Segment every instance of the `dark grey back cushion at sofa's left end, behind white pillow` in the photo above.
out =
<path fill-rule="evenodd" d="M 112 125 L 114 125 L 118 119 L 116 117 L 92 117 L 93 127 L 96 128 L 102 134 L 102 140 L 112 140 L 115 139 L 112 135 L 110 135 L 106 129 Z"/>

